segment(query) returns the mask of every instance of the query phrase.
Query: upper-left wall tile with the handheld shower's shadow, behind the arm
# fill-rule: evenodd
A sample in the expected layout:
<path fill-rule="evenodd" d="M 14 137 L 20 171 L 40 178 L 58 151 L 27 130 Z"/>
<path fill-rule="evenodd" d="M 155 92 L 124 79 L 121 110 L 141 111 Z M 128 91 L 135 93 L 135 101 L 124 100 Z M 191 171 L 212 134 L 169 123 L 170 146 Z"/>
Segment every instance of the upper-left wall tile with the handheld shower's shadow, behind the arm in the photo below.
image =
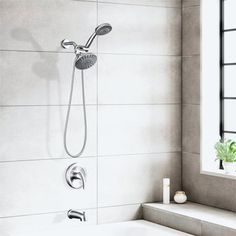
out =
<path fill-rule="evenodd" d="M 1 0 L 0 49 L 65 51 L 65 38 L 84 44 L 96 26 L 96 9 L 95 2 Z"/>

